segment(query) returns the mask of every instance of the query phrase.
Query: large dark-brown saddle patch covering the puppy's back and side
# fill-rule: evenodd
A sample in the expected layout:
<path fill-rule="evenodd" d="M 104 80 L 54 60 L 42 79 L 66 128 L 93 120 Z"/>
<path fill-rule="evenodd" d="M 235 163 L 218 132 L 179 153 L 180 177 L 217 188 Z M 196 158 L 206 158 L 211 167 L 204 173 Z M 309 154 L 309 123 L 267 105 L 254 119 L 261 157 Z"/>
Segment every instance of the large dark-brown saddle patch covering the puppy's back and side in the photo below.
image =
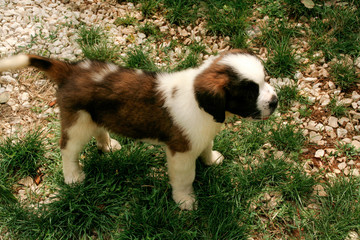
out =
<path fill-rule="evenodd" d="M 102 81 L 93 81 L 94 73 L 104 67 L 106 63 L 102 62 L 92 62 L 90 69 L 74 65 L 73 74 L 59 86 L 62 147 L 67 142 L 66 129 L 76 121 L 76 113 L 85 110 L 96 124 L 111 132 L 135 139 L 156 139 L 174 152 L 190 150 L 189 140 L 164 107 L 156 73 L 137 74 L 119 67 Z"/>

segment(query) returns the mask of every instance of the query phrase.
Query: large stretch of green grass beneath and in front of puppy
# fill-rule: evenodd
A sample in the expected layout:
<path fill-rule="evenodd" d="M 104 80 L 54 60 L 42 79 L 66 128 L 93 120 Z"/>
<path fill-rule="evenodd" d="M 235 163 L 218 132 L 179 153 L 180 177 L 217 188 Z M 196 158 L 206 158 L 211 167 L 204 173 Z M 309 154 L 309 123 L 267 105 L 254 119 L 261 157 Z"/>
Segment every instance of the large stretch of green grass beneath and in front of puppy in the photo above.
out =
<path fill-rule="evenodd" d="M 39 197 L 17 202 L 12 195 L 0 201 L 0 233 L 15 239 L 246 239 L 292 236 L 299 230 L 304 235 L 315 231 L 322 239 L 329 234 L 324 232 L 326 214 L 334 211 L 336 215 L 329 218 L 340 232 L 327 231 L 339 236 L 356 231 L 359 209 L 349 200 L 358 201 L 359 185 L 344 181 L 343 189 L 351 194 L 342 197 L 340 188 L 331 193 L 340 198 L 339 209 L 347 205 L 354 210 L 341 210 L 350 226 L 344 225 L 327 198 L 315 199 L 321 218 L 307 210 L 307 204 L 315 201 L 313 186 L 319 183 L 294 164 L 299 161 L 299 154 L 294 153 L 303 147 L 304 138 L 295 126 L 277 121 L 234 119 L 228 123 L 214 146 L 224 154 L 224 163 L 211 167 L 197 163 L 194 188 L 199 204 L 195 211 L 180 211 L 173 202 L 161 148 L 118 138 L 123 148 L 114 153 L 99 153 L 94 141 L 85 148 L 83 183 L 68 186 L 62 177 L 46 178 L 44 184 L 56 189 L 49 203 L 38 204 Z M 41 142 L 40 135 L 30 135 Z M 268 143 L 271 149 L 261 155 Z M 278 156 L 277 151 L 285 155 Z M 44 161 L 39 164 L 48 168 Z M 14 177 L 23 166 L 17 166 Z M 61 166 L 57 167 L 60 172 Z M 330 183 L 324 186 L 332 188 Z"/>

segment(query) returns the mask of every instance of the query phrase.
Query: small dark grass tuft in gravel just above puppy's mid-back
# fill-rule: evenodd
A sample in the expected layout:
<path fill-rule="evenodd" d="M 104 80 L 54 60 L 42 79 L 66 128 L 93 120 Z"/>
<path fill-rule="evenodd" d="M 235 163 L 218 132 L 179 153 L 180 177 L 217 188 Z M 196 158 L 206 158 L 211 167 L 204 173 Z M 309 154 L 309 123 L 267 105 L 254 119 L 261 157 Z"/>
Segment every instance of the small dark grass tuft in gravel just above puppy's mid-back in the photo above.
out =
<path fill-rule="evenodd" d="M 126 57 L 123 58 L 125 66 L 134 69 L 143 69 L 146 71 L 156 72 L 158 68 L 151 60 L 149 54 L 141 48 L 133 48 L 129 50 Z"/>

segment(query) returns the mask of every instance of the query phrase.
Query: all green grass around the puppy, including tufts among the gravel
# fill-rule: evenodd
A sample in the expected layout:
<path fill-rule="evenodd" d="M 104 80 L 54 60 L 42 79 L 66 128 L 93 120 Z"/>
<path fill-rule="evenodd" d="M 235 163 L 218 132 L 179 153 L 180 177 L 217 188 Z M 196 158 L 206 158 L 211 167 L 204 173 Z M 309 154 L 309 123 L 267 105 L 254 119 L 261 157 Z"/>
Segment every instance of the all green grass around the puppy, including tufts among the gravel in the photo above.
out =
<path fill-rule="evenodd" d="M 353 59 L 360 55 L 356 28 L 359 12 L 351 7 L 329 7 L 315 1 L 315 8 L 307 9 L 300 1 L 290 0 L 133 2 L 141 3 L 137 6 L 148 19 L 159 14 L 182 27 L 205 20 L 208 35 L 229 36 L 232 47 L 248 46 L 246 29 L 255 2 L 260 14 L 270 17 L 254 41 L 267 48 L 266 69 L 273 77 L 292 78 L 303 67 L 297 59 L 318 61 L 310 57 L 317 51 L 324 53 L 326 62 L 341 59 L 341 54 Z M 360 7 L 357 1 L 346 2 Z M 296 21 L 309 24 L 311 31 L 294 24 Z M 116 24 L 136 25 L 155 43 L 169 40 L 151 21 L 143 23 L 125 16 Z M 296 56 L 294 43 L 304 39 L 310 40 L 308 53 Z M 201 54 L 209 54 L 201 43 L 183 46 L 181 40 L 171 40 L 165 48 L 148 43 L 134 46 L 120 57 L 124 46 L 114 45 L 106 30 L 96 26 L 79 26 L 78 44 L 87 58 L 120 60 L 126 67 L 155 72 L 196 67 Z M 187 50 L 186 54 L 176 62 L 162 58 L 168 67 L 158 67 L 155 56 L 167 55 L 175 46 Z M 331 78 L 343 90 L 352 89 L 354 69 L 342 66 L 330 66 Z M 278 96 L 280 113 L 290 111 L 297 101 L 305 105 L 299 110 L 301 116 L 311 115 L 309 102 L 296 85 L 278 89 Z M 348 112 L 335 100 L 328 110 L 336 117 Z M 233 118 L 227 122 L 214 141 L 214 149 L 225 156 L 225 161 L 211 167 L 197 162 L 194 188 L 198 209 L 194 211 L 181 211 L 172 200 L 165 154 L 159 147 L 117 138 L 123 147 L 120 151 L 99 153 L 92 141 L 81 154 L 85 181 L 68 186 L 63 182 L 55 144 L 59 139 L 56 121 L 52 141 L 39 132 L 5 139 L 0 143 L 0 238 L 345 239 L 350 231 L 359 233 L 360 180 L 350 176 L 324 181 L 319 175 L 308 175 L 300 153 L 307 139 L 291 122 L 291 118 L 275 116 L 268 121 Z M 349 160 L 359 154 L 349 144 L 339 143 L 335 148 L 336 156 Z M 39 169 L 45 173 L 38 187 L 41 191 L 17 184 L 24 177 L 36 177 Z M 319 184 L 327 196 L 313 194 Z M 19 189 L 27 191 L 25 200 L 20 201 Z M 317 208 L 310 208 L 311 204 Z"/>

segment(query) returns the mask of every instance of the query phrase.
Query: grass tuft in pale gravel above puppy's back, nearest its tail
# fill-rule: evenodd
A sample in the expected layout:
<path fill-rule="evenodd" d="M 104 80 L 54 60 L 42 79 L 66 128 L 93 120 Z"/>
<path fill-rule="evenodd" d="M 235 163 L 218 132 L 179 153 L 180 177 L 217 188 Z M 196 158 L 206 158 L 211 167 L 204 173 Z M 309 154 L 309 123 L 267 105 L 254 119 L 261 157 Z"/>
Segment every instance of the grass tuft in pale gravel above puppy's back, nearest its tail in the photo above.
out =
<path fill-rule="evenodd" d="M 115 62 L 119 58 L 119 47 L 111 43 L 100 27 L 80 27 L 77 42 L 88 59 Z"/>

